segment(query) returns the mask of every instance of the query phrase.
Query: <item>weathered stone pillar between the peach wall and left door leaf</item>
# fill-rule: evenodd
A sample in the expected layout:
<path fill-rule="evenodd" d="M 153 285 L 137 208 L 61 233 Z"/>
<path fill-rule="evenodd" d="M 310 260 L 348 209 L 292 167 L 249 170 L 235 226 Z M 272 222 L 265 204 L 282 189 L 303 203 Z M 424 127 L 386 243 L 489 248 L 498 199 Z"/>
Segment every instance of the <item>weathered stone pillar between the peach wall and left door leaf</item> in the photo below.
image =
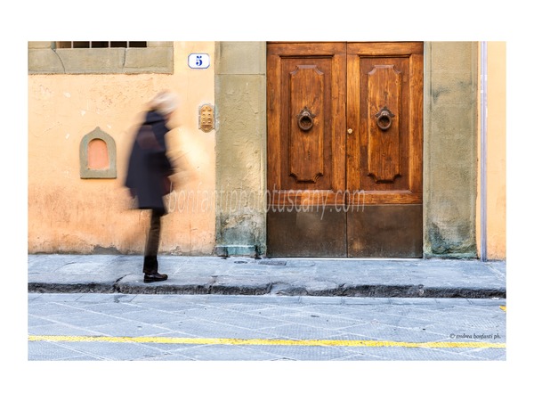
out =
<path fill-rule="evenodd" d="M 265 42 L 216 45 L 217 255 L 265 253 L 267 100 Z"/>

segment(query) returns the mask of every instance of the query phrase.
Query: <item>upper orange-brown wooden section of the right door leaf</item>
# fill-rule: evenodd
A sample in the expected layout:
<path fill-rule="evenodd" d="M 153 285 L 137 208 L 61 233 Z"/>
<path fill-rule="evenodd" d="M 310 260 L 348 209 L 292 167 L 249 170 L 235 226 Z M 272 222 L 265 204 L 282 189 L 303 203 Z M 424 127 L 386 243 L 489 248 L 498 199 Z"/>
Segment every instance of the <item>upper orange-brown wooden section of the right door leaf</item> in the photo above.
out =
<path fill-rule="evenodd" d="M 367 204 L 423 201 L 422 44 L 348 44 L 347 187 Z M 356 128 L 353 128 L 356 127 Z"/>

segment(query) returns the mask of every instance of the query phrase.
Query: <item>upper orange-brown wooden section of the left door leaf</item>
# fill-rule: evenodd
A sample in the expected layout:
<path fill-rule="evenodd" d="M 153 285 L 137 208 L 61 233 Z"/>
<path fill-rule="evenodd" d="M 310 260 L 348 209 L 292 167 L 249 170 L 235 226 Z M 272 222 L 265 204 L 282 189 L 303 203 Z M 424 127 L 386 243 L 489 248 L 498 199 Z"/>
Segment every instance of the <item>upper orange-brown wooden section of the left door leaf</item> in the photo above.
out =
<path fill-rule="evenodd" d="M 268 46 L 268 187 L 283 207 L 345 186 L 345 44 Z"/>

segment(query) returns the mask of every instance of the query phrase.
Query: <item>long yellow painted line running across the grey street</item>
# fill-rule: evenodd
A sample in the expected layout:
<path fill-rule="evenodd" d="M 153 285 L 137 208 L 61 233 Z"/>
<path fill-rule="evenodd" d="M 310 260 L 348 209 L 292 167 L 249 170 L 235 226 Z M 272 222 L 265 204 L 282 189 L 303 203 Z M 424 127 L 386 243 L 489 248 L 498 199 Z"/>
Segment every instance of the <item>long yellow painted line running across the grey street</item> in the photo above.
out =
<path fill-rule="evenodd" d="M 379 340 L 271 340 L 271 339 L 199 339 L 182 337 L 103 337 L 103 336 L 29 336 L 29 341 L 52 342 L 137 342 L 157 344 L 256 345 L 304 347 L 400 347 L 400 348 L 506 348 L 502 342 L 406 342 Z"/>

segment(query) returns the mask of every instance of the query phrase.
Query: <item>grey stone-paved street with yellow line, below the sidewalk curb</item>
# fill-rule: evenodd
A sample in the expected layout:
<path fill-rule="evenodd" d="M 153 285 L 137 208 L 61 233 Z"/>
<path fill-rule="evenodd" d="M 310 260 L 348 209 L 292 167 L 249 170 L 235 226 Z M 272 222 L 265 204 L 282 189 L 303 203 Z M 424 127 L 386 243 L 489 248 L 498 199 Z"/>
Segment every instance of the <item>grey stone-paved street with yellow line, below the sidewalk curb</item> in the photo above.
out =
<path fill-rule="evenodd" d="M 505 299 L 29 293 L 28 360 L 504 361 L 502 307 Z"/>

